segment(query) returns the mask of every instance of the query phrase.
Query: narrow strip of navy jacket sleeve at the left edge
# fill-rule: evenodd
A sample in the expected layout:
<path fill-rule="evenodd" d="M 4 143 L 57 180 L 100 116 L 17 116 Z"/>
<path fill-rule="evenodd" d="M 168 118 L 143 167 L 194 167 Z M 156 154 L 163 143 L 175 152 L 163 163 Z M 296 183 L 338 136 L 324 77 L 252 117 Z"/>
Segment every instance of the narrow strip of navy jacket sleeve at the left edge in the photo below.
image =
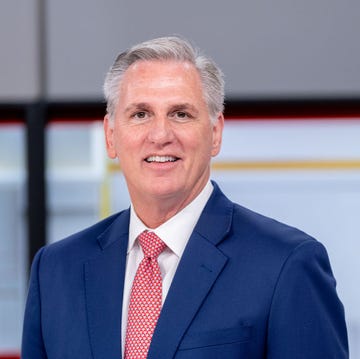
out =
<path fill-rule="evenodd" d="M 46 351 L 41 329 L 41 298 L 39 285 L 39 266 L 43 249 L 35 256 L 30 274 L 29 292 L 26 301 L 21 358 L 46 359 Z"/>

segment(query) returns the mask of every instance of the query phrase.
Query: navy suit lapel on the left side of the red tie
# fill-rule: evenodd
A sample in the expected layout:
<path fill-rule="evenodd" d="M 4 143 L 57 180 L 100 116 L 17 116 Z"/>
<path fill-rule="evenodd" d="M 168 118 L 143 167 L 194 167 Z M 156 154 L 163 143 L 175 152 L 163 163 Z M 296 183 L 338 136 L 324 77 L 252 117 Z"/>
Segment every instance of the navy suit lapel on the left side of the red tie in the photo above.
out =
<path fill-rule="evenodd" d="M 129 213 L 98 238 L 100 255 L 84 265 L 89 337 L 94 359 L 121 358 L 121 309 Z M 100 310 L 101 308 L 101 310 Z"/>

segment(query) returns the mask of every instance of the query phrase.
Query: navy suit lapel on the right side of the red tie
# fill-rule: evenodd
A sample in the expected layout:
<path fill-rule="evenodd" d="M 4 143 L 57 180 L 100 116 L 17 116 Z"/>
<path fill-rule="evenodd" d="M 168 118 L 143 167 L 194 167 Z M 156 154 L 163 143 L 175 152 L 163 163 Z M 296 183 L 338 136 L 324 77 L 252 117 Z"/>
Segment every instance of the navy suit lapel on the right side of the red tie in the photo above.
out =
<path fill-rule="evenodd" d="M 227 262 L 216 247 L 228 233 L 232 203 L 214 193 L 189 239 L 162 308 L 149 359 L 173 358 L 179 343 Z"/>

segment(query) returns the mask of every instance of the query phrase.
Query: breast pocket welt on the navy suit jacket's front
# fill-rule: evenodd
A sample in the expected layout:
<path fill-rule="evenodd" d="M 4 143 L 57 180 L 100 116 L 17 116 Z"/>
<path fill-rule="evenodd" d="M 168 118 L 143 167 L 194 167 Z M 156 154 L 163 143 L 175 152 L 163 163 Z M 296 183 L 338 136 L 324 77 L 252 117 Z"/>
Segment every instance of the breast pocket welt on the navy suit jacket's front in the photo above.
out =
<path fill-rule="evenodd" d="M 185 335 L 179 350 L 202 348 L 214 345 L 247 342 L 251 338 L 251 326 L 241 325 L 234 328 L 191 333 Z"/>

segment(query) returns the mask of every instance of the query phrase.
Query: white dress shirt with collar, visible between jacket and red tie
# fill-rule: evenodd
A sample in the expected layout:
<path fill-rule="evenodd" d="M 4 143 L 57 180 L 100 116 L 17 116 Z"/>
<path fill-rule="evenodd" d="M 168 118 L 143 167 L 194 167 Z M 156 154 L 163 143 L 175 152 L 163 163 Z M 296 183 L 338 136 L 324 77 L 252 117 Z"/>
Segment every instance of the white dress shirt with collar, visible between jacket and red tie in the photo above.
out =
<path fill-rule="evenodd" d="M 121 336 L 122 351 L 125 349 L 125 335 L 128 318 L 128 307 L 132 282 L 135 278 L 137 267 L 144 257 L 137 237 L 144 230 L 154 232 L 166 244 L 165 250 L 160 253 L 158 263 L 162 275 L 162 303 L 169 291 L 176 268 L 184 252 L 186 244 L 193 232 L 195 225 L 203 211 L 213 186 L 209 181 L 199 195 L 183 208 L 174 217 L 155 229 L 147 228 L 135 213 L 133 206 L 130 209 L 129 243 L 126 257 L 126 271 L 124 282 L 124 295 L 122 303 Z"/>

